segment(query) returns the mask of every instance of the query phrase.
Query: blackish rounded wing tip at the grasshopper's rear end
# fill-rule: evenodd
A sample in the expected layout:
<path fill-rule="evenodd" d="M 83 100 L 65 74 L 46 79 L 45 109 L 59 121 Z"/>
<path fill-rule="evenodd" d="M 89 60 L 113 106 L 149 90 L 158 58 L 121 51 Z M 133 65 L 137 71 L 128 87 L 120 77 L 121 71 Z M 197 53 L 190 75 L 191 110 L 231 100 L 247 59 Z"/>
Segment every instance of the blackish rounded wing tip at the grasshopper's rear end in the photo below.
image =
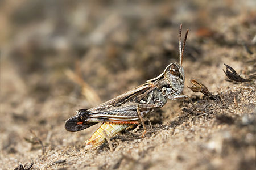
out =
<path fill-rule="evenodd" d="M 65 122 L 65 129 L 67 131 L 75 132 L 80 131 L 90 126 L 97 124 L 98 122 L 87 122 L 87 121 L 79 121 L 78 115 L 72 116 Z"/>

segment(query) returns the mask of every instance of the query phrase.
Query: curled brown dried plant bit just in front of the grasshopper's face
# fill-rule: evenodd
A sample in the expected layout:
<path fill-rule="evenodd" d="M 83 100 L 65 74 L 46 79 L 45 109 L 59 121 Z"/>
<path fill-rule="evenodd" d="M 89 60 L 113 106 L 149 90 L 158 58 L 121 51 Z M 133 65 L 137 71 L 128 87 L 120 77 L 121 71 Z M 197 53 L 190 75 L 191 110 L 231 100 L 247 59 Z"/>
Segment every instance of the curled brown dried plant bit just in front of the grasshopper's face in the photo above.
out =
<path fill-rule="evenodd" d="M 193 84 L 193 86 L 187 87 L 190 88 L 193 92 L 200 92 L 205 96 L 209 97 L 209 99 L 218 101 L 218 98 L 211 94 L 208 88 L 203 83 L 199 83 L 196 79 L 191 79 L 190 82 Z"/>

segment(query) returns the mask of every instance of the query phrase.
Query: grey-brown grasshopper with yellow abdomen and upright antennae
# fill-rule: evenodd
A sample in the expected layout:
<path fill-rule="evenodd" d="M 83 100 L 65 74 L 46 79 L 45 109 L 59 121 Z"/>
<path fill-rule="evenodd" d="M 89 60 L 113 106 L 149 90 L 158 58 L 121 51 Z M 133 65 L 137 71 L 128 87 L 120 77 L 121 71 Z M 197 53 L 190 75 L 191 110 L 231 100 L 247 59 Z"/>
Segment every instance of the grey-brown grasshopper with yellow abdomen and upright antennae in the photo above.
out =
<path fill-rule="evenodd" d="M 80 131 L 98 122 L 103 122 L 92 137 L 86 141 L 85 148 L 89 149 L 99 146 L 105 141 L 105 138 L 112 138 L 115 134 L 134 124 L 141 123 L 145 133 L 146 126 L 143 117 L 148 113 L 163 107 L 167 103 L 167 99 L 189 99 L 188 96 L 180 95 L 185 81 L 182 62 L 188 35 L 187 29 L 181 49 L 181 29 L 182 24 L 180 24 L 179 29 L 179 63 L 170 63 L 163 73 L 156 78 L 147 80 L 141 86 L 135 87 L 112 100 L 90 109 L 77 110 L 77 114 L 65 122 L 65 129 L 72 132 Z M 191 100 L 189 99 L 189 101 Z M 105 137 L 104 134 L 108 137 Z"/>

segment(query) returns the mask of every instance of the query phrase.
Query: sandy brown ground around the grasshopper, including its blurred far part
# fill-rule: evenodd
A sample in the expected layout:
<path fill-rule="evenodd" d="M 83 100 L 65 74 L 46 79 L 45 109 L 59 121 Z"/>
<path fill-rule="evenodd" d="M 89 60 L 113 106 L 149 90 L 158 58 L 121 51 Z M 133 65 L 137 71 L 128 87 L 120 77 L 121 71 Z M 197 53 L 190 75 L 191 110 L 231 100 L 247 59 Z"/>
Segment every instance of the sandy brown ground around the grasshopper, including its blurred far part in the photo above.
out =
<path fill-rule="evenodd" d="M 2 1 L 0 169 L 255 169 L 256 2 Z M 85 151 L 99 125 L 64 129 L 90 108 L 158 76 L 184 54 L 187 100 Z M 229 82 L 232 66 L 251 82 Z M 195 78 L 220 101 L 194 93 Z M 197 111 L 195 111 L 195 108 Z M 146 122 L 149 128 L 148 122 Z"/>

